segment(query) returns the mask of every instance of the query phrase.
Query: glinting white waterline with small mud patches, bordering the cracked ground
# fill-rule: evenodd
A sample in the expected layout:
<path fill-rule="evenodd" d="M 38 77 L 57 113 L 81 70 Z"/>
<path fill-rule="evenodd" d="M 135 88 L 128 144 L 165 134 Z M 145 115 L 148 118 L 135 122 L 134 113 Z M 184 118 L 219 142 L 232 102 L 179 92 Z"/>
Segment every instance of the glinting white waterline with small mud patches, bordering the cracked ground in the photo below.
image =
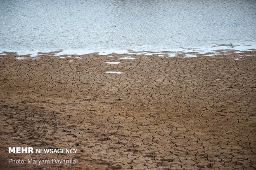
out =
<path fill-rule="evenodd" d="M 42 54 L 39 54 L 41 52 L 47 53 L 47 56 L 60 56 L 61 58 L 65 57 L 71 57 L 71 56 L 66 56 L 66 55 L 86 55 L 86 54 L 98 54 L 98 55 L 105 55 L 109 58 L 116 57 L 115 54 L 126 54 L 126 56 L 123 56 L 119 59 L 121 60 L 134 60 L 136 59 L 137 55 L 145 55 L 145 56 L 152 56 L 152 55 L 158 55 L 158 56 L 165 56 L 165 57 L 175 57 L 177 54 L 180 53 L 195 53 L 195 54 L 202 54 L 206 56 L 214 56 L 215 54 L 220 54 L 226 53 L 233 51 L 235 53 L 241 53 L 241 51 L 248 51 L 251 49 L 256 49 L 256 43 L 252 45 L 235 45 L 235 46 L 230 46 L 228 44 L 223 45 L 223 44 L 210 44 L 207 46 L 203 47 L 192 47 L 192 48 L 175 48 L 175 49 L 159 49 L 156 50 L 155 48 L 150 48 L 150 49 L 99 49 L 99 50 L 89 50 L 89 49 L 69 49 L 69 50 L 45 50 L 45 51 L 29 51 L 29 50 L 6 50 L 6 49 L 0 49 L 0 53 L 5 54 L 5 52 L 15 52 L 17 53 L 18 56 L 22 55 L 30 55 L 31 57 L 35 56 L 42 56 Z M 50 51 L 54 51 L 50 53 Z M 147 52 L 144 52 L 147 51 Z M 151 51 L 151 52 L 150 52 Z M 211 54 L 208 54 L 211 53 Z M 51 54 L 51 55 L 50 55 Z M 110 55 L 111 54 L 111 55 Z M 194 55 L 195 55 L 194 54 Z M 63 55 L 63 56 L 62 56 Z M 192 57 L 192 56 L 185 56 L 185 57 Z M 195 56 L 193 56 L 195 57 Z"/>

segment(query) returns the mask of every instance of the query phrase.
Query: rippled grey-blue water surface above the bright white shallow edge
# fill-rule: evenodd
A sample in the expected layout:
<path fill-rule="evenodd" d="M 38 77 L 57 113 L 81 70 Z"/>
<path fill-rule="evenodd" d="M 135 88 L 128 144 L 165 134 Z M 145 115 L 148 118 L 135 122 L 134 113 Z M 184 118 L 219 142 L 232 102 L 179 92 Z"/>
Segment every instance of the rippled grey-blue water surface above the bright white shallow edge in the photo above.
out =
<path fill-rule="evenodd" d="M 256 44 L 255 0 L 0 0 L 0 50 Z"/>

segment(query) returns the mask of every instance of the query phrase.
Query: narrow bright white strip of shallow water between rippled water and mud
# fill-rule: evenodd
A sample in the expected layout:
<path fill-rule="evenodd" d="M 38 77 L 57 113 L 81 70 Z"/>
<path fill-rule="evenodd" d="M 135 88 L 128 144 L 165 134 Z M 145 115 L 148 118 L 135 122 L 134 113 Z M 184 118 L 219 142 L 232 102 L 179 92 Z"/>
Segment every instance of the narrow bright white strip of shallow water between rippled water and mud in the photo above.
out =
<path fill-rule="evenodd" d="M 232 44 L 211 44 L 203 47 L 189 47 L 189 48 L 172 48 L 172 49 L 102 49 L 102 50 L 92 50 L 92 49 L 65 49 L 65 50 L 45 50 L 47 52 L 42 52 L 42 50 L 1 50 L 0 55 L 6 53 L 14 53 L 18 56 L 41 56 L 41 55 L 86 55 L 86 54 L 99 54 L 99 55 L 109 55 L 109 54 L 181 54 L 181 53 L 195 53 L 195 54 L 220 54 L 218 51 L 254 51 L 256 50 L 256 45 L 232 45 Z"/>

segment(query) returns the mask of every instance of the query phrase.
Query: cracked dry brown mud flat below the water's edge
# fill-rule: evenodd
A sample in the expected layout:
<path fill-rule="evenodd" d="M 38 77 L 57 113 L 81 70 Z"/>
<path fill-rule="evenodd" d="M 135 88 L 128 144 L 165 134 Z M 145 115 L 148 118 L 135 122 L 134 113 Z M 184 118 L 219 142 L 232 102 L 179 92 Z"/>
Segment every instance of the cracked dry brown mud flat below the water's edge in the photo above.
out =
<path fill-rule="evenodd" d="M 256 51 L 181 55 L 1 55 L 1 167 L 255 169 Z M 234 60 L 238 56 L 244 57 Z M 121 63 L 105 63 L 114 61 Z M 18 146 L 79 153 L 8 154 Z M 77 164 L 11 165 L 7 158 L 73 158 Z"/>

